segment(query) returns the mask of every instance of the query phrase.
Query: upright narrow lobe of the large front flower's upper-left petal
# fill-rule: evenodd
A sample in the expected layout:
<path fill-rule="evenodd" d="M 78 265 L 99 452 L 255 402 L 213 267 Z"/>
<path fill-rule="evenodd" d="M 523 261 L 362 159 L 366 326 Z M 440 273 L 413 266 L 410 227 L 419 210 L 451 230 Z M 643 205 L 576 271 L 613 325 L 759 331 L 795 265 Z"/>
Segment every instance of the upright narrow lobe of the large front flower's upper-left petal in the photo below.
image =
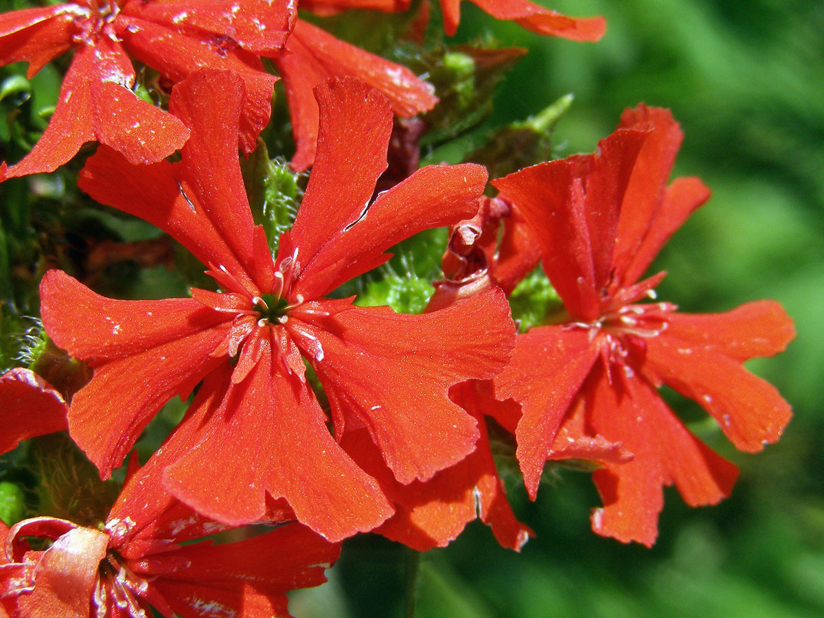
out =
<path fill-rule="evenodd" d="M 271 279 L 274 265 L 268 251 L 258 256 L 268 263 L 255 260 L 255 222 L 237 158 L 243 98 L 240 77 L 203 70 L 175 87 L 169 110 L 192 132 L 181 152 L 180 177 L 191 186 L 206 217 L 262 289 L 263 283 Z"/>

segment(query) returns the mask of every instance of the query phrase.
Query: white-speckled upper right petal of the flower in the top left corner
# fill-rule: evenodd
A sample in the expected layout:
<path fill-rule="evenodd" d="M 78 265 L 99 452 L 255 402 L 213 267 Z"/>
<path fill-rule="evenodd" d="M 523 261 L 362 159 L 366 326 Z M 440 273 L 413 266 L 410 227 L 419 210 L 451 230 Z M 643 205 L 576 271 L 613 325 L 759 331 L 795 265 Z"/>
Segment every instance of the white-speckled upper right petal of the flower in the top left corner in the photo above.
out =
<path fill-rule="evenodd" d="M 268 55 L 286 42 L 297 17 L 293 2 L 267 0 L 166 0 L 129 2 L 124 15 L 141 17 L 177 30 L 199 30 L 225 35 L 243 49 Z"/>

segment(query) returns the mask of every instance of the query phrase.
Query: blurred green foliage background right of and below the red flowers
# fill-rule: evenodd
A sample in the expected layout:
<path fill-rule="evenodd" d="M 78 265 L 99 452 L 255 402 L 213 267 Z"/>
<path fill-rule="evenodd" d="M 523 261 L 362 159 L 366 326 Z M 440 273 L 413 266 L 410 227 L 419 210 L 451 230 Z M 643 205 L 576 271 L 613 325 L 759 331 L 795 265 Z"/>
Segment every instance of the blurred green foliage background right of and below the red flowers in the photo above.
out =
<path fill-rule="evenodd" d="M 588 475 L 561 473 L 534 504 L 516 489 L 516 513 L 537 537 L 517 555 L 475 523 L 428 552 L 416 616 L 824 616 L 824 2 L 550 6 L 606 16 L 606 36 L 597 44 L 542 38 L 461 5 L 456 40 L 492 32 L 529 49 L 499 85 L 494 122 L 573 92 L 554 136 L 565 156 L 592 152 L 627 106 L 670 107 L 686 136 L 675 173 L 700 176 L 714 195 L 660 256 L 669 275 L 659 297 L 685 311 L 779 300 L 798 338 L 748 367 L 778 386 L 795 418 L 758 455 L 736 452 L 706 424 L 695 428 L 741 467 L 741 479 L 714 508 L 687 508 L 668 490 L 652 550 L 590 531 L 589 508 L 600 502 Z M 293 611 L 402 616 L 402 558 L 380 539 L 349 541 L 330 584 L 298 595 Z"/>

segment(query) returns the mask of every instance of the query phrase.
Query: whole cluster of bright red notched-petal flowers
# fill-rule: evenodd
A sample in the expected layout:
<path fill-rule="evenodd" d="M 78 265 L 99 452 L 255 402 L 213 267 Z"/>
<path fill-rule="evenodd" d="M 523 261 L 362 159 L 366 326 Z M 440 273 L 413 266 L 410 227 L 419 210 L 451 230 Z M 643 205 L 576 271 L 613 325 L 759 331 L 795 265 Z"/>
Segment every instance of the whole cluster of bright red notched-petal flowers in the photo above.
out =
<path fill-rule="evenodd" d="M 473 2 L 541 34 L 604 31 L 601 18 L 522 0 Z M 460 2 L 440 4 L 452 35 Z M 288 616 L 285 592 L 321 583 L 360 531 L 423 551 L 480 518 L 520 550 L 532 531 L 499 478 L 499 439 L 531 499 L 546 461 L 591 461 L 604 503 L 593 530 L 652 545 L 663 486 L 697 506 L 737 478 L 662 385 L 742 451 L 789 421 L 775 388 L 742 367 L 793 338 L 777 303 L 689 315 L 650 301 L 664 274 L 644 272 L 709 198 L 695 178 L 667 185 L 681 145 L 667 110 L 626 110 L 597 153 L 492 180 L 495 197 L 475 163 L 425 166 L 378 191 L 396 116 L 438 98 L 297 8 L 76 0 L 0 16 L 0 64 L 26 60 L 31 75 L 73 50 L 47 129 L 0 180 L 54 171 L 98 142 L 79 189 L 165 232 L 208 275 L 160 300 L 101 296 L 61 269 L 42 277 L 48 344 L 86 372 L 78 383 L 35 360 L 3 374 L 0 451 L 68 430 L 105 480 L 170 400 L 188 408 L 145 465 L 129 458 L 108 514 L 0 522 L 0 616 Z M 409 2 L 302 4 L 349 8 Z M 142 83 L 152 71 L 157 101 Z M 311 173 L 291 227 L 272 237 L 238 151 L 255 151 L 279 78 L 292 169 Z M 438 227 L 450 230 L 444 276 L 424 311 L 358 302 L 353 281 Z M 518 333 L 508 297 L 539 263 L 559 303 Z M 250 536 L 249 524 L 276 527 Z M 232 541 L 192 542 L 214 535 Z"/>

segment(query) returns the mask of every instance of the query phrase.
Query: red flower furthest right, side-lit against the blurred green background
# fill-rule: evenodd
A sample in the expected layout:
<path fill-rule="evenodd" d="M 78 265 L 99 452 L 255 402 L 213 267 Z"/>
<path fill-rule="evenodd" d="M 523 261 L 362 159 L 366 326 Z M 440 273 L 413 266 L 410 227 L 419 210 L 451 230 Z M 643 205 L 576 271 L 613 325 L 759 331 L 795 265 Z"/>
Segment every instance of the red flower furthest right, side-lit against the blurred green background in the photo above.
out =
<path fill-rule="evenodd" d="M 559 431 L 620 442 L 628 463 L 606 462 L 594 480 L 605 506 L 595 531 L 652 545 L 662 485 L 692 506 L 728 495 L 737 468 L 711 451 L 658 397 L 662 384 L 702 405 L 736 447 L 780 438 L 789 405 L 743 361 L 784 349 L 792 321 L 770 301 L 714 315 L 685 315 L 653 296 L 659 273 L 638 283 L 658 250 L 709 197 L 700 180 L 666 186 L 681 130 L 667 110 L 627 110 L 598 154 L 542 163 L 494 185 L 538 236 L 543 267 L 569 319 L 518 335 L 513 362 L 494 379 L 499 399 L 522 405 L 517 458 L 535 496 Z"/>

